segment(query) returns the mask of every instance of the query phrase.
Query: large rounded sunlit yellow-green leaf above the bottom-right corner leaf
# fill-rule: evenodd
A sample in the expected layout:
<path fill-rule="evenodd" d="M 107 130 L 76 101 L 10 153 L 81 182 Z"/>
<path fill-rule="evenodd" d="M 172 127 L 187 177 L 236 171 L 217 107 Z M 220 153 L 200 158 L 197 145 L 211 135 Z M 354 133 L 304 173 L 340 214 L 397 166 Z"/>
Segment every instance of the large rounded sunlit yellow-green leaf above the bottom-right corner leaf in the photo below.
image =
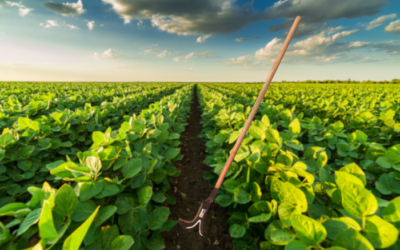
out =
<path fill-rule="evenodd" d="M 352 216 L 362 218 L 374 214 L 378 209 L 375 196 L 362 186 L 349 182 L 341 190 L 342 205 Z"/>

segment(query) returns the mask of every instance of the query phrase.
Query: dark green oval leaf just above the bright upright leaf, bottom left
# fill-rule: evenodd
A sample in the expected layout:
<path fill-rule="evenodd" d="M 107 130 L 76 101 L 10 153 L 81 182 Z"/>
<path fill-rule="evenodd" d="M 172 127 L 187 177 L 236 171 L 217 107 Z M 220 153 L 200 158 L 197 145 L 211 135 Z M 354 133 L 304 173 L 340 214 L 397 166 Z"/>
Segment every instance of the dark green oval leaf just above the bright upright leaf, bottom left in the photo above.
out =
<path fill-rule="evenodd" d="M 79 200 L 71 186 L 64 184 L 56 193 L 54 212 L 61 216 L 73 214 L 78 207 Z"/>

